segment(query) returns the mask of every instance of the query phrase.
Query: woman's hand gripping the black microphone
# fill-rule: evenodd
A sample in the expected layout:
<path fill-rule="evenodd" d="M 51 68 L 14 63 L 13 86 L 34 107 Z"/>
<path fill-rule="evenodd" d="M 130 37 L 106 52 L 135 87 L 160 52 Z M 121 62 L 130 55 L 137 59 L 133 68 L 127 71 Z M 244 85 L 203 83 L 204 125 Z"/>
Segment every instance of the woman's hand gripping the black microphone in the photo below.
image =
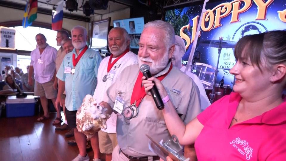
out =
<path fill-rule="evenodd" d="M 165 87 L 163 86 L 161 81 L 159 81 L 157 78 L 151 77 L 151 78 L 148 78 L 147 80 L 145 80 L 145 79 L 146 79 L 146 77 L 143 76 L 142 77 L 142 84 L 145 88 L 145 92 L 147 95 L 151 95 L 150 89 L 152 89 L 154 85 L 156 85 L 156 87 L 157 87 L 162 98 L 164 98 L 168 95 Z"/>

